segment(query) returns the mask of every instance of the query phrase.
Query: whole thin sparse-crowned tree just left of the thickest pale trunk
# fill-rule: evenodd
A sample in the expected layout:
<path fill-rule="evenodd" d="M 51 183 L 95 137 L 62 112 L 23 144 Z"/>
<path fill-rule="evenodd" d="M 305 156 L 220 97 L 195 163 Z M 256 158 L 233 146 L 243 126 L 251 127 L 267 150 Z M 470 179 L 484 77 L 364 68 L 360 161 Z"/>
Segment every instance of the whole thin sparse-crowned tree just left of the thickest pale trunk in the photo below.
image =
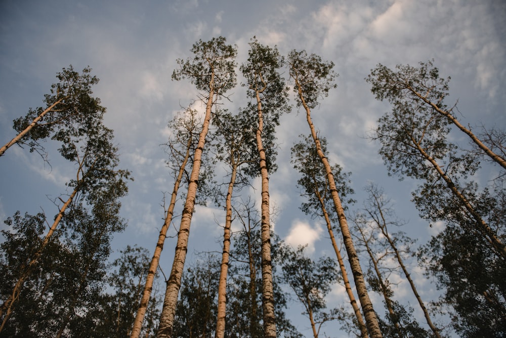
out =
<path fill-rule="evenodd" d="M 177 114 L 171 122 L 168 123 L 168 128 L 173 132 L 173 137 L 167 142 L 167 146 L 171 155 L 171 161 L 168 162 L 168 165 L 174 170 L 174 188 L 171 194 L 171 201 L 165 212 L 165 221 L 163 222 L 163 226 L 161 227 L 158 235 L 158 241 L 156 242 L 153 258 L 151 259 L 151 263 L 149 265 L 142 299 L 139 304 L 139 309 L 137 310 L 132 332 L 130 334 L 131 338 L 138 338 L 141 333 L 142 322 L 146 311 L 148 310 L 148 303 L 151 297 L 153 281 L 156 275 L 156 270 L 158 269 L 161 251 L 163 250 L 163 244 L 165 242 L 165 238 L 167 237 L 167 230 L 170 227 L 174 216 L 174 208 L 176 206 L 179 187 L 186 172 L 186 164 L 188 163 L 190 156 L 194 153 L 194 149 L 197 147 L 197 127 L 197 111 L 191 109 L 190 107 L 188 107 L 184 112 Z"/>

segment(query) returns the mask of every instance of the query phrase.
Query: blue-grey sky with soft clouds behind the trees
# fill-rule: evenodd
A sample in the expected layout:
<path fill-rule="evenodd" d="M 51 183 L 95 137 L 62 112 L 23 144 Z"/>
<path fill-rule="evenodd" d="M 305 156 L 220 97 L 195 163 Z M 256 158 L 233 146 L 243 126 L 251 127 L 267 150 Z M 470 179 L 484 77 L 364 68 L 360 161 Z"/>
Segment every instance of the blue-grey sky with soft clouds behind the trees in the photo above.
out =
<path fill-rule="evenodd" d="M 44 94 L 55 75 L 73 65 L 86 66 L 100 82 L 93 88 L 107 108 L 106 125 L 114 130 L 121 167 L 135 178 L 129 196 L 122 201 L 127 230 L 114 239 L 114 248 L 138 244 L 151 252 L 163 224 L 163 193 L 172 191 L 168 159 L 160 144 L 167 140 L 166 124 L 197 92 L 185 80 L 172 81 L 178 58 L 190 57 L 195 41 L 225 36 L 238 47 L 237 61 L 247 58 L 247 43 L 256 36 L 264 45 L 276 45 L 280 53 L 306 50 L 335 63 L 340 74 L 332 90 L 313 110 L 313 122 L 328 140 L 329 159 L 351 172 L 354 198 L 350 208 L 362 206 L 363 187 L 372 181 L 382 186 L 395 203 L 403 229 L 418 243 L 436 234 L 437 225 L 418 217 L 409 201 L 416 182 L 399 182 L 387 175 L 377 155 L 379 145 L 367 140 L 379 116 L 389 110 L 370 93 L 364 78 L 376 64 L 417 65 L 434 59 L 443 77 L 451 76 L 447 103 L 458 100 L 464 124 L 506 128 L 506 3 L 501 0 L 389 0 L 370 1 L 0 1 L 0 136 L 3 144 L 14 136 L 12 120 L 28 108 L 43 105 Z M 283 75 L 288 77 L 287 70 Z M 243 82 L 241 75 L 239 82 Z M 231 90 L 233 111 L 245 105 L 243 90 Z M 290 148 L 299 134 L 308 134 L 303 112 L 294 105 L 277 129 L 278 171 L 270 178 L 271 204 L 275 205 L 274 229 L 292 245 L 308 244 L 308 254 L 326 255 L 331 246 L 324 224 L 299 210 L 303 201 L 296 187 L 299 178 L 290 164 Z M 464 141 L 465 142 L 465 141 Z M 48 149 L 51 145 L 48 144 Z M 35 153 L 13 146 L 0 159 L 0 218 L 16 210 L 56 214 L 51 202 L 65 192 L 72 166 L 58 165 L 58 153 L 50 153 L 52 166 Z M 227 178 L 223 178 L 226 180 Z M 486 179 L 486 178 L 484 178 Z M 259 182 L 255 183 L 259 187 Z M 260 199 L 260 190 L 254 191 Z M 260 205 L 260 203 L 258 203 Z M 216 221 L 215 221 L 216 220 Z M 198 207 L 191 226 L 188 260 L 196 252 L 221 251 L 223 210 Z M 4 224 L 0 224 L 5 229 Z M 171 230 L 174 234 L 174 228 Z M 167 238 L 160 266 L 170 271 L 174 238 Z M 415 270 L 415 278 L 427 300 L 435 299 L 435 285 Z M 397 295 L 414 305 L 405 283 Z M 344 288 L 336 286 L 327 299 L 330 307 L 345 302 Z M 381 299 L 372 296 L 374 304 Z M 297 308 L 293 305 L 293 308 Z M 382 311 L 380 311 L 382 313 Z M 309 322 L 291 311 L 298 328 L 310 334 Z M 415 312 L 419 314 L 418 312 Z M 419 315 L 423 324 L 423 317 Z M 305 325 L 304 323 L 308 323 Z M 331 326 L 329 336 L 346 336 Z"/>

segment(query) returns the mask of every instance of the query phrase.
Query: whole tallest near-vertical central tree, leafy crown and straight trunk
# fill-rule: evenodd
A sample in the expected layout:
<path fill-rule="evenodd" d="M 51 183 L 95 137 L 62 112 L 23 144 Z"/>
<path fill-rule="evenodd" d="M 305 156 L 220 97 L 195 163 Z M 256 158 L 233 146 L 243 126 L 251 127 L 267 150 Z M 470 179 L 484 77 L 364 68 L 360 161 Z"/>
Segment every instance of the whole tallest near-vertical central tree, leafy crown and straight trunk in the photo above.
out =
<path fill-rule="evenodd" d="M 269 209 L 269 172 L 275 170 L 273 149 L 268 147 L 274 141 L 274 129 L 279 125 L 279 117 L 288 112 L 287 91 L 284 80 L 279 74 L 279 68 L 284 60 L 276 47 L 261 45 L 256 37 L 249 43 L 248 60 L 241 66 L 246 78 L 248 89 L 248 103 L 251 112 L 256 111 L 257 120 L 257 150 L 260 158 L 260 176 L 262 178 L 262 306 L 264 320 L 264 335 L 276 336 L 276 320 L 274 313 L 274 292 L 272 285 L 272 258 L 270 243 L 270 209 Z M 268 156 L 270 152 L 271 156 Z M 258 171 L 254 176 L 258 176 Z"/>

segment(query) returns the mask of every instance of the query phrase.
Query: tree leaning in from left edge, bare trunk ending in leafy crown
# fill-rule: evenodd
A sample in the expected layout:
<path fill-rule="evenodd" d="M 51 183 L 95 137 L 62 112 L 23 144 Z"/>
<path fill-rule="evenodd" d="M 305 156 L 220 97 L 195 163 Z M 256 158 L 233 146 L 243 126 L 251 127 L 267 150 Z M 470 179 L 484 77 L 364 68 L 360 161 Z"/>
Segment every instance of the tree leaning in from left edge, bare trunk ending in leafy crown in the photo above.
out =
<path fill-rule="evenodd" d="M 91 71 L 86 67 L 79 74 L 70 65 L 57 73 L 59 82 L 51 86 L 51 94 L 45 95 L 46 107 L 30 108 L 26 116 L 14 120 L 13 128 L 18 135 L 0 148 L 0 156 L 14 144 L 27 144 L 30 152 L 43 151 L 39 140 L 51 137 L 61 141 L 60 130 L 83 135 L 83 128 L 91 119 L 101 120 L 105 108 L 100 106 L 100 99 L 91 96 L 91 87 L 99 81 L 91 76 Z"/>

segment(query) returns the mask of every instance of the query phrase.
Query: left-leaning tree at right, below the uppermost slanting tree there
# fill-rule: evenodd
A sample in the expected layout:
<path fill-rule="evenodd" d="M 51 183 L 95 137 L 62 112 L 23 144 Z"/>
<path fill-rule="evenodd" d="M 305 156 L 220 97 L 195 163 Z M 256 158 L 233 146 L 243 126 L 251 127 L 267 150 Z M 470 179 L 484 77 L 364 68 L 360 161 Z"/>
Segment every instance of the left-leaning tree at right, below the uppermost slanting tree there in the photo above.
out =
<path fill-rule="evenodd" d="M 372 75 L 368 80 L 376 90 L 377 80 Z M 392 112 L 379 118 L 379 125 L 371 135 L 382 143 L 379 153 L 389 172 L 400 175 L 401 179 L 405 175 L 425 182 L 413 200 L 426 218 L 434 221 L 462 219 L 461 224 L 474 223 L 473 231 L 485 236 L 497 256 L 506 260 L 506 246 L 499 238 L 499 229 L 492 228 L 487 214 L 479 211 L 477 189 L 468 179 L 479 168 L 476 154 L 461 153 L 458 146 L 448 140 L 451 121 L 447 116 L 409 98 L 399 97 L 391 103 Z"/>

